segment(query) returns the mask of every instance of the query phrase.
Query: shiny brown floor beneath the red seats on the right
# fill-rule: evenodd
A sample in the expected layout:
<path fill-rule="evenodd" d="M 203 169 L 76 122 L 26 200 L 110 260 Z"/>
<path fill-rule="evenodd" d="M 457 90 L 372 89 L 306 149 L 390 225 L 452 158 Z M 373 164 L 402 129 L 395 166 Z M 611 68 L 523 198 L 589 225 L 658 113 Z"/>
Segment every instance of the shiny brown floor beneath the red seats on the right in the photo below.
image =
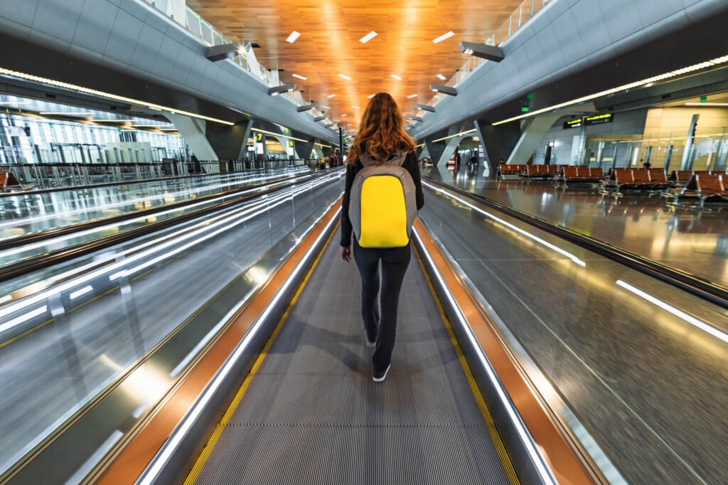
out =
<path fill-rule="evenodd" d="M 728 287 L 728 205 L 671 208 L 662 197 L 600 195 L 588 185 L 486 178 L 483 166 L 422 174 Z"/>

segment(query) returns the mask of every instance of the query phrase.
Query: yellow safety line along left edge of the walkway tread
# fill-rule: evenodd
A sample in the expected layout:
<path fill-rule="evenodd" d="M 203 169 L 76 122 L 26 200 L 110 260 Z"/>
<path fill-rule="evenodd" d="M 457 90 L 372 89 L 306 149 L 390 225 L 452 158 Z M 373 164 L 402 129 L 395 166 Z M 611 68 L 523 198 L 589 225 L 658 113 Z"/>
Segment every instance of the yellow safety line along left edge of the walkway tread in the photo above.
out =
<path fill-rule="evenodd" d="M 230 403 L 230 406 L 228 406 L 228 409 L 225 411 L 225 414 L 223 414 L 222 419 L 218 423 L 217 427 L 215 427 L 215 431 L 213 431 L 213 434 L 210 436 L 210 439 L 207 440 L 207 443 L 205 443 L 205 448 L 202 449 L 202 453 L 199 454 L 199 457 L 197 458 L 197 461 L 194 463 L 194 466 L 192 467 L 192 470 L 190 471 L 189 475 L 184 481 L 184 485 L 191 485 L 194 484 L 194 482 L 197 480 L 197 476 L 199 476 L 199 473 L 202 471 L 202 468 L 205 466 L 205 463 L 207 462 L 207 459 L 210 457 L 210 453 L 213 452 L 213 449 L 215 449 L 215 445 L 218 443 L 218 440 L 220 439 L 221 435 L 223 434 L 223 431 L 225 430 L 226 425 L 230 421 L 230 418 L 232 418 L 232 415 L 234 414 L 235 410 L 237 409 L 237 406 L 240 405 L 240 401 L 242 400 L 242 396 L 245 394 L 245 391 L 248 390 L 248 386 L 250 386 L 250 381 L 253 380 L 253 376 L 256 375 L 256 372 L 258 372 L 258 368 L 260 368 L 261 364 L 263 363 L 263 359 L 266 358 L 266 355 L 268 354 L 268 351 L 270 350 L 274 339 L 278 335 L 278 331 L 280 331 L 280 328 L 283 326 L 283 322 L 288 318 L 288 315 L 290 314 L 290 310 L 293 308 L 293 305 L 296 304 L 296 300 L 298 300 L 298 296 L 301 295 L 301 292 L 304 291 L 304 286 L 309 280 L 309 277 L 311 277 L 312 273 L 314 272 L 314 268 L 318 264 L 319 260 L 321 259 L 321 256 L 323 256 L 323 251 L 328 246 L 328 243 L 331 242 L 331 238 L 333 237 L 333 234 L 336 234 L 336 229 L 339 227 L 339 223 L 336 223 L 336 226 L 334 226 L 333 230 L 331 231 L 331 234 L 329 234 L 328 239 L 326 240 L 325 244 L 321 248 L 320 253 L 314 260 L 314 264 L 311 265 L 311 269 L 309 269 L 309 272 L 306 273 L 306 277 L 304 277 L 304 280 L 301 281 L 301 285 L 298 286 L 298 290 L 296 290 L 296 293 L 293 295 L 293 299 L 290 300 L 290 304 L 288 304 L 288 308 L 285 309 L 285 312 L 283 313 L 280 320 L 278 320 L 278 323 L 276 324 L 273 333 L 271 334 L 270 338 L 268 339 L 268 342 L 266 342 L 265 347 L 263 347 L 263 350 L 261 351 L 260 355 L 258 355 L 258 358 L 256 359 L 256 362 L 253 363 L 253 367 L 250 368 L 250 372 L 248 372 L 248 376 L 245 377 L 245 381 L 242 382 L 242 385 L 240 386 L 240 389 L 237 391 L 237 394 L 235 394 L 235 397 L 233 398 L 232 402 Z"/>

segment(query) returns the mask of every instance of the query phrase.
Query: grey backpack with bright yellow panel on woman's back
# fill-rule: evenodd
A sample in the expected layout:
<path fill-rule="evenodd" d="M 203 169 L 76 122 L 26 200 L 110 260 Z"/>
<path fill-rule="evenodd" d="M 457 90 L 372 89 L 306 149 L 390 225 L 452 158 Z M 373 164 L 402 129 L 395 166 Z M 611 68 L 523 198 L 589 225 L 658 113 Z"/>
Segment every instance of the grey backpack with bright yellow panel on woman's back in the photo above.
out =
<path fill-rule="evenodd" d="M 417 214 L 414 181 L 402 167 L 406 153 L 381 165 L 365 155 L 349 195 L 349 220 L 362 248 L 408 245 Z"/>

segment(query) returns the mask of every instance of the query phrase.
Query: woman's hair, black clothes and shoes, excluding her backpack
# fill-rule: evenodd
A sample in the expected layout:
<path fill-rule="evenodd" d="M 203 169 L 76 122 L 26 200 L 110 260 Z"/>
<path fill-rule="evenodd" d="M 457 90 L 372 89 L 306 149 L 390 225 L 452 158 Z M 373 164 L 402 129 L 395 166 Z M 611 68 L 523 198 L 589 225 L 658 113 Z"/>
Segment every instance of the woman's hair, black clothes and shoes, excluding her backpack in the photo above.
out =
<path fill-rule="evenodd" d="M 349 218 L 349 200 L 355 176 L 364 168 L 361 159 L 365 158 L 368 166 L 372 165 L 372 160 L 377 166 L 400 160 L 401 166 L 414 182 L 416 208 L 420 210 L 424 205 L 424 197 L 414 151 L 415 143 L 405 133 L 402 114 L 394 98 L 387 92 L 374 95 L 364 110 L 359 134 L 347 158 L 347 180 L 341 208 L 341 259 L 344 261 L 350 261 L 352 257 L 353 226 Z M 397 305 L 412 252 L 409 242 L 399 248 L 363 248 L 357 241 L 359 235 L 354 234 L 354 261 L 362 280 L 362 317 L 367 344 L 374 347 L 372 379 L 381 382 L 387 376 L 392 362 Z M 378 295 L 380 261 L 381 295 Z"/>

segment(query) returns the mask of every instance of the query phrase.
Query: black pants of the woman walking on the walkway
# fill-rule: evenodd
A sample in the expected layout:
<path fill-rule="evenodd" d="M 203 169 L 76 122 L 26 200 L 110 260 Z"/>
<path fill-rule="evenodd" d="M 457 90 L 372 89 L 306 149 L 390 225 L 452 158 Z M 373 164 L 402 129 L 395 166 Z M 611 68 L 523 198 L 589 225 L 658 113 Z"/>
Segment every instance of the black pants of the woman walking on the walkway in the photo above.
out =
<path fill-rule="evenodd" d="M 362 277 L 362 317 L 367 338 L 376 339 L 372 356 L 375 372 L 384 371 L 392 360 L 397 333 L 397 304 L 402 282 L 412 257 L 410 245 L 403 248 L 362 248 L 354 238 L 354 261 Z M 379 308 L 379 260 L 381 259 L 381 296 Z"/>

